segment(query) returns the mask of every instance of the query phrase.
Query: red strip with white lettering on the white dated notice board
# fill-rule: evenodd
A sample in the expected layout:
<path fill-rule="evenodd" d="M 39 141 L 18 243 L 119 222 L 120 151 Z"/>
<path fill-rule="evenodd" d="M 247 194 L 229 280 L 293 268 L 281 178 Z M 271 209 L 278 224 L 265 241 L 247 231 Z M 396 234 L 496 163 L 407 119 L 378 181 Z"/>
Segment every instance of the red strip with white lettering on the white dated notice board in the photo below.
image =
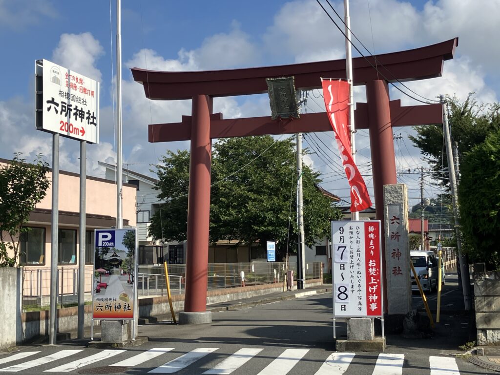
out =
<path fill-rule="evenodd" d="M 382 275 L 380 271 L 380 222 L 364 223 L 366 267 L 366 315 L 382 315 Z"/>

